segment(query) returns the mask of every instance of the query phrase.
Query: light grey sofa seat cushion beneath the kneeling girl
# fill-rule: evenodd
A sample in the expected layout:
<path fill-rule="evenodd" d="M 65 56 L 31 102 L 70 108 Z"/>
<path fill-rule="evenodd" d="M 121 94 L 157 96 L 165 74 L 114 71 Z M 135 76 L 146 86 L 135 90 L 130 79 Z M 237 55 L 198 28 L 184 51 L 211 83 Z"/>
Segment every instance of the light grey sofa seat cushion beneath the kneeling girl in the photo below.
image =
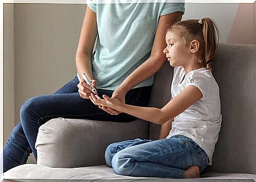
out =
<path fill-rule="evenodd" d="M 131 177 L 121 176 L 113 172 L 112 168 L 106 165 L 89 166 L 79 168 L 51 168 L 36 164 L 24 164 L 12 168 L 4 173 L 4 179 L 124 179 L 136 181 L 162 181 L 167 178 L 146 178 L 146 177 Z M 44 180 L 43 180 L 44 179 Z M 238 181 L 253 181 L 256 180 L 256 175 L 251 174 L 223 174 L 223 173 L 206 173 L 199 179 L 193 181 L 202 181 L 203 179 L 212 179 L 211 181 L 229 181 L 230 179 L 240 179 Z M 245 180 L 241 180 L 245 179 Z M 185 179 L 184 179 L 185 180 Z M 22 180 L 24 181 L 24 180 Z M 29 180 L 28 180 L 29 181 Z M 180 179 L 168 179 L 168 181 L 180 181 Z M 186 179 L 185 181 L 189 181 Z"/>

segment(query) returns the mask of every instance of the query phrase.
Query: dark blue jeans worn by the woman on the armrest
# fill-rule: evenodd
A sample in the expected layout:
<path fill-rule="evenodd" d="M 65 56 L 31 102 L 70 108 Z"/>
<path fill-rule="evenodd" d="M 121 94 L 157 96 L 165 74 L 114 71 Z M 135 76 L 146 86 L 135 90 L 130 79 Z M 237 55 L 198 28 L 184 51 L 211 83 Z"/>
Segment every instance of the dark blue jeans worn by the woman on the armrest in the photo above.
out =
<path fill-rule="evenodd" d="M 111 122 L 131 122 L 136 118 L 124 113 L 110 115 L 94 105 L 90 99 L 79 96 L 75 77 L 52 95 L 32 97 L 20 109 L 21 122 L 18 123 L 8 139 L 3 153 L 3 171 L 25 164 L 30 153 L 35 158 L 35 141 L 39 127 L 48 120 L 58 117 L 104 120 Z M 150 96 L 151 86 L 131 89 L 126 94 L 126 103 L 146 106 Z M 113 91 L 97 89 L 98 94 L 111 97 Z M 111 132 L 111 131 L 109 131 Z M 1 164 L 0 164 L 1 165 Z"/>

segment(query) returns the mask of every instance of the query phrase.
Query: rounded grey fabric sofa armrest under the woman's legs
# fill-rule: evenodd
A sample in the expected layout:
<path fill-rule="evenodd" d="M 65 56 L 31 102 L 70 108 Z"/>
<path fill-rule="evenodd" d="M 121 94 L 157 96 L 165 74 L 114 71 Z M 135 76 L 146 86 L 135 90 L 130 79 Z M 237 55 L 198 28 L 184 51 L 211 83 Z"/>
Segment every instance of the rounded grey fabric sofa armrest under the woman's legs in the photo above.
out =
<path fill-rule="evenodd" d="M 115 123 L 55 118 L 39 128 L 37 164 L 63 168 L 102 165 L 110 143 L 147 137 L 148 123 L 139 119 Z"/>

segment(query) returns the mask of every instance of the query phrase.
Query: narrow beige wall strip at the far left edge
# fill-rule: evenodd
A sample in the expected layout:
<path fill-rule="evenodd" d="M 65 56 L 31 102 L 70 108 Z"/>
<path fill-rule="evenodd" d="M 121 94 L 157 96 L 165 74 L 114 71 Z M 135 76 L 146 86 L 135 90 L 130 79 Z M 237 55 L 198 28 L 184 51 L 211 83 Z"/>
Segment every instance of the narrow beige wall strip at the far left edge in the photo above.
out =
<path fill-rule="evenodd" d="M 14 4 L 4 4 L 4 128 L 3 144 L 14 126 Z M 2 134 L 1 134 L 2 135 Z M 2 146 L 1 146 L 2 147 Z M 1 148 L 2 151 L 2 148 Z"/>

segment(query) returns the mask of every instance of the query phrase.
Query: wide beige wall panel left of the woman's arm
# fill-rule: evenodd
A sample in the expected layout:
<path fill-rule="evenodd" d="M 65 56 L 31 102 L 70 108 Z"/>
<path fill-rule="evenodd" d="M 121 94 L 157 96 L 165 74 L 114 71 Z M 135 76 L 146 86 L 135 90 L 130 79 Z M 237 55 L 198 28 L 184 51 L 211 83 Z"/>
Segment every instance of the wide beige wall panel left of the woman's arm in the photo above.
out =
<path fill-rule="evenodd" d="M 76 74 L 83 4 L 15 4 L 15 111 L 26 99 L 52 94 Z"/>

